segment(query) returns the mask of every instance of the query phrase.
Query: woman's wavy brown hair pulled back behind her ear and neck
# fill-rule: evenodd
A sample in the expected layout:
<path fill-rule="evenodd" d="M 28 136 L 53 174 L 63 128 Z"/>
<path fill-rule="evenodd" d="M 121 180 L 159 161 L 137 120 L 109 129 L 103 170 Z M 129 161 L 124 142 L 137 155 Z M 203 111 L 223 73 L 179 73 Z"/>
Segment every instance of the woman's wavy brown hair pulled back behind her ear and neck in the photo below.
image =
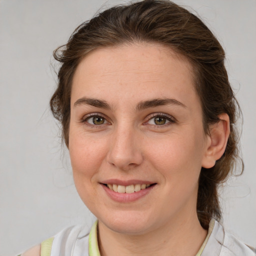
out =
<path fill-rule="evenodd" d="M 212 168 L 201 168 L 199 177 L 197 215 L 207 228 L 211 217 L 221 218 L 218 184 L 226 179 L 237 158 L 234 125 L 239 106 L 228 82 L 223 48 L 207 26 L 186 9 L 167 0 L 144 0 L 107 9 L 74 30 L 68 42 L 53 53 L 61 66 L 50 107 L 62 124 L 62 137 L 68 146 L 71 85 L 80 60 L 95 48 L 127 42 L 158 42 L 192 63 L 205 133 L 209 133 L 209 124 L 219 121 L 219 114 L 229 116 L 225 152 Z"/>

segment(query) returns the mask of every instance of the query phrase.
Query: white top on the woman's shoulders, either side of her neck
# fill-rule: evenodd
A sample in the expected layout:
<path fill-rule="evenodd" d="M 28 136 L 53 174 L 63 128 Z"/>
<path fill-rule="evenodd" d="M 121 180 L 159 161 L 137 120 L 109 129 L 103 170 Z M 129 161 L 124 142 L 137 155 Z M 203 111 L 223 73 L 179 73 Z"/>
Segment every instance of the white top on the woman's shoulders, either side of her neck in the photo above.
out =
<path fill-rule="evenodd" d="M 196 256 L 256 256 L 247 245 L 225 232 L 217 221 L 211 221 L 211 226 L 212 230 L 209 228 L 205 242 Z M 90 235 L 89 242 L 89 232 L 90 230 L 82 226 L 63 229 L 54 236 L 50 256 L 95 256 L 93 252 L 90 255 L 88 253 L 89 243 L 93 239 Z"/>

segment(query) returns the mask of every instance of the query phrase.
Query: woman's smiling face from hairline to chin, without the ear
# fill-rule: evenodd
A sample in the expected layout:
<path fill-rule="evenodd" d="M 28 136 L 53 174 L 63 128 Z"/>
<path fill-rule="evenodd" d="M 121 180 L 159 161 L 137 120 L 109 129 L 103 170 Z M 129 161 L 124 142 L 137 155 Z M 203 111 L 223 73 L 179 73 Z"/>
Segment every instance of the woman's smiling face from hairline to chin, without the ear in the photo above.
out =
<path fill-rule="evenodd" d="M 76 69 L 70 110 L 75 186 L 101 223 L 144 233 L 196 215 L 209 138 L 186 59 L 159 44 L 96 49 Z"/>

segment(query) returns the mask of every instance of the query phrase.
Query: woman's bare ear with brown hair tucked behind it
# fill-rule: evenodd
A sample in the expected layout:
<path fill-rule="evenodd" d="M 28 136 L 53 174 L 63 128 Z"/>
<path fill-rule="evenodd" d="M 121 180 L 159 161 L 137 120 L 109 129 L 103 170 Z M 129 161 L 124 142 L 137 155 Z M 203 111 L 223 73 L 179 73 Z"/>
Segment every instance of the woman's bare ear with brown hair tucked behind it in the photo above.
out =
<path fill-rule="evenodd" d="M 215 165 L 225 151 L 227 139 L 230 133 L 229 117 L 226 113 L 220 114 L 219 121 L 209 126 L 209 135 L 206 140 L 206 148 L 202 159 L 202 167 L 211 168 Z"/>

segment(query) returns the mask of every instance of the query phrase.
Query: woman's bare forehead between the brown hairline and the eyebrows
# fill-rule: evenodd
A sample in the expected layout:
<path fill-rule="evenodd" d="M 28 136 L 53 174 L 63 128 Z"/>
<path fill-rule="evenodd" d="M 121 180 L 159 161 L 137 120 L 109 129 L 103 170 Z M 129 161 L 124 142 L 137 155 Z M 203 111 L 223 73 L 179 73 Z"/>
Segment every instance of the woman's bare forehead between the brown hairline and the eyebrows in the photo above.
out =
<path fill-rule="evenodd" d="M 190 62 L 170 47 L 134 43 L 97 48 L 75 71 L 71 104 L 80 96 L 143 100 L 195 93 Z M 111 92 L 111 93 L 110 93 Z M 181 98 L 176 98 L 181 100 Z"/>

